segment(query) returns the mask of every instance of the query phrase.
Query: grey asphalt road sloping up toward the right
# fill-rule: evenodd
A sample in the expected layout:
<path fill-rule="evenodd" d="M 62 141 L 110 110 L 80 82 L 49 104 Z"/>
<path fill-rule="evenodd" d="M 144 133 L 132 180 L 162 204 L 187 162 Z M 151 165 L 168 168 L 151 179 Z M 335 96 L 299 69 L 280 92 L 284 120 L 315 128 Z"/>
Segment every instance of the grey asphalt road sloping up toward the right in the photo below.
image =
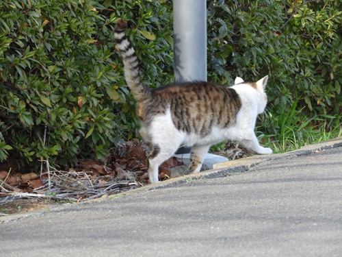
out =
<path fill-rule="evenodd" d="M 342 256 L 342 147 L 6 219 L 0 256 Z"/>

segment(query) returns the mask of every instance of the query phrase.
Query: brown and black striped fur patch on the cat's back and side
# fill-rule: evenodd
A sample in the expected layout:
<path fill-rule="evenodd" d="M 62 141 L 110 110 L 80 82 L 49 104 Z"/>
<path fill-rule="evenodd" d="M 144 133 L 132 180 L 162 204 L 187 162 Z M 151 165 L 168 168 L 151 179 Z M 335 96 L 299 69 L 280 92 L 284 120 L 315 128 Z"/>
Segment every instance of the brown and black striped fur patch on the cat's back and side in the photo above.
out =
<path fill-rule="evenodd" d="M 186 82 L 153 90 L 150 110 L 170 110 L 177 129 L 205 136 L 212 127 L 235 122 L 241 99 L 233 88 L 210 82 Z"/>

